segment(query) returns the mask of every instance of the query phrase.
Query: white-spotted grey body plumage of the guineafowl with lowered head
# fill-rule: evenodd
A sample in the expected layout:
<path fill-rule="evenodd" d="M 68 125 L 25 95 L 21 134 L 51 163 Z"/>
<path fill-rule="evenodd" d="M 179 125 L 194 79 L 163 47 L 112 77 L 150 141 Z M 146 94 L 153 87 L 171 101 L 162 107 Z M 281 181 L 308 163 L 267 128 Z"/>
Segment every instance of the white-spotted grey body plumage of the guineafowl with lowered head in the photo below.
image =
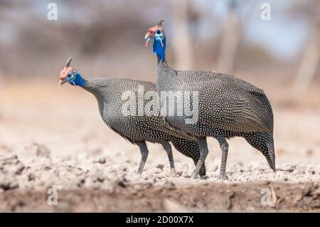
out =
<path fill-rule="evenodd" d="M 145 93 L 156 92 L 154 83 L 122 78 L 89 79 L 85 80 L 85 86 L 82 88 L 95 95 L 102 120 L 124 139 L 137 144 L 142 150 L 146 149 L 144 144 L 146 141 L 161 144 L 172 142 L 178 152 L 191 157 L 193 162 L 197 164 L 200 158 L 200 149 L 195 137 L 170 127 L 159 113 L 158 115 L 124 115 L 122 107 L 127 100 L 122 100 L 122 94 L 128 91 L 134 92 L 135 97 L 138 98 L 139 86 L 143 86 Z M 138 105 L 136 107 L 138 108 Z M 164 145 L 164 147 L 166 146 L 167 144 Z M 201 176 L 206 174 L 204 164 L 199 174 Z"/>

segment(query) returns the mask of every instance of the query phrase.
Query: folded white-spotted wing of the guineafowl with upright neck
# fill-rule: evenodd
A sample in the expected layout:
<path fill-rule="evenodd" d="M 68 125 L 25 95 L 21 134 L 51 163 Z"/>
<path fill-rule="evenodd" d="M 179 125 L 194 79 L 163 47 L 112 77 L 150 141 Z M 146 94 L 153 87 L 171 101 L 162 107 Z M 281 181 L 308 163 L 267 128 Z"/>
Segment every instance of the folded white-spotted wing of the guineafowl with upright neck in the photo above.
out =
<path fill-rule="evenodd" d="M 272 134 L 273 115 L 270 102 L 260 88 L 230 75 L 196 73 L 188 83 L 199 90 L 199 122 L 221 130 L 267 132 Z M 203 79 L 203 80 L 202 80 Z"/>

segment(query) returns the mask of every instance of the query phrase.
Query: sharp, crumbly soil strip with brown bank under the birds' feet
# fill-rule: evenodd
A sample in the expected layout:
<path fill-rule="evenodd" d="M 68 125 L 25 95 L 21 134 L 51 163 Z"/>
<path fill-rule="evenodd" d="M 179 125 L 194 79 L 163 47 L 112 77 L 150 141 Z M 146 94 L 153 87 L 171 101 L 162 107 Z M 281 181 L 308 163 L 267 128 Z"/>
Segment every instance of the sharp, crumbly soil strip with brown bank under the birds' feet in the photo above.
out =
<path fill-rule="evenodd" d="M 186 164 L 176 172 L 159 164 L 140 176 L 137 163 L 123 161 L 0 159 L 0 211 L 320 211 L 320 183 L 312 183 L 319 180 L 319 165 L 283 164 L 275 175 L 264 164 L 233 165 L 222 183 L 218 165 L 208 179 L 193 180 Z M 57 191 L 57 206 L 48 204 L 48 189 Z M 267 205 L 261 202 L 264 189 L 271 192 Z"/>

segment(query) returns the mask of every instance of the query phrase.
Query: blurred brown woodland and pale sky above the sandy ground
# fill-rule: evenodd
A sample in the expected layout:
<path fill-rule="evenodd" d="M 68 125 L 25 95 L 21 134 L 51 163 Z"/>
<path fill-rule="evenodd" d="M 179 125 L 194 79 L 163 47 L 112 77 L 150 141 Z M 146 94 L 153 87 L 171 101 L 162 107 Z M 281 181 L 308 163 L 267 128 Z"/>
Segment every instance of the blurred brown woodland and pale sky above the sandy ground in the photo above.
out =
<path fill-rule="evenodd" d="M 174 68 L 274 77 L 295 96 L 319 82 L 316 0 L 54 1 L 57 20 L 50 2 L 0 1 L 1 78 L 53 78 L 73 56 L 84 75 L 154 80 L 143 37 L 164 18 Z"/>

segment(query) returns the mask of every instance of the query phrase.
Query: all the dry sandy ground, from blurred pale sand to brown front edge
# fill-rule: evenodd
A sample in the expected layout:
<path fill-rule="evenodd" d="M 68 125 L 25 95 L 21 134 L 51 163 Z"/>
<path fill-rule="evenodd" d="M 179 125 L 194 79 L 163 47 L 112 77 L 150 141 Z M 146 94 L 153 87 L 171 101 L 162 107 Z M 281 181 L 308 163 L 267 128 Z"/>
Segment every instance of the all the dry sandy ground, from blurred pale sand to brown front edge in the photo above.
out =
<path fill-rule="evenodd" d="M 221 182 L 212 138 L 208 179 L 191 179 L 193 162 L 176 150 L 171 172 L 158 144 L 148 144 L 139 176 L 138 147 L 105 126 L 95 98 L 69 85 L 58 90 L 55 82 L 6 83 L 0 91 L 0 211 L 320 211 L 315 99 L 296 106 L 271 93 L 277 174 L 260 152 L 233 138 L 229 180 Z M 56 206 L 48 204 L 51 189 Z"/>

